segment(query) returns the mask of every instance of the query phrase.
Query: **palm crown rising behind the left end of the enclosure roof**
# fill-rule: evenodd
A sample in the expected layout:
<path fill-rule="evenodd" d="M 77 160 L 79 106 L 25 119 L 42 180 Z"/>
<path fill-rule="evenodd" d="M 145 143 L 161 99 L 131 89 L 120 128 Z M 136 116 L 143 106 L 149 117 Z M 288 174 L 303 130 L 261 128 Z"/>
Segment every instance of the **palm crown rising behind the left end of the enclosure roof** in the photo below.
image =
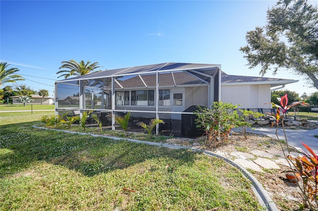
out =
<path fill-rule="evenodd" d="M 64 78 L 68 78 L 71 75 L 87 75 L 89 73 L 94 72 L 94 69 L 99 68 L 101 66 L 98 66 L 98 62 L 94 62 L 90 64 L 90 61 L 85 62 L 81 60 L 79 63 L 75 60 L 71 59 L 69 61 L 62 61 L 62 66 L 59 69 L 63 69 L 58 71 L 56 74 L 64 73 L 60 75 L 59 77 L 64 76 Z M 101 71 L 101 70 L 98 70 Z M 58 78 L 59 78 L 58 77 Z"/>

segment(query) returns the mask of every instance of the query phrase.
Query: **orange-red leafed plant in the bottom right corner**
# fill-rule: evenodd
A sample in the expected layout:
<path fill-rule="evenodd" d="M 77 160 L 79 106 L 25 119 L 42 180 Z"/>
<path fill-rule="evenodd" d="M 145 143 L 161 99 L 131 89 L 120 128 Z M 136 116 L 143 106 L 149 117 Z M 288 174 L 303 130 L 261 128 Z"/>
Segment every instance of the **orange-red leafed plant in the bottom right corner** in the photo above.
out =
<path fill-rule="evenodd" d="M 318 183 L 318 156 L 315 152 L 306 144 L 302 143 L 309 153 L 302 152 L 303 156 L 291 156 L 288 155 L 286 158 L 289 159 L 290 163 L 293 164 L 292 171 L 295 176 L 298 173 L 301 176 L 302 184 L 297 180 L 297 185 L 302 192 L 302 198 L 305 207 L 310 210 L 315 210 L 313 204 L 316 204 L 318 208 L 318 195 L 317 195 L 317 183 Z"/>

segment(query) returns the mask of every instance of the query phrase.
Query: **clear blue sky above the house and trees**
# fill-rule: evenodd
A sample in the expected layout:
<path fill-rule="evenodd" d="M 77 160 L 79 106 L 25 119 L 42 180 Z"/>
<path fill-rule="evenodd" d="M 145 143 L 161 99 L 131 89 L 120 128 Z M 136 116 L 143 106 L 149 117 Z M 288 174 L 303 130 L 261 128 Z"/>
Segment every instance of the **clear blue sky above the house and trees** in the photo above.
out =
<path fill-rule="evenodd" d="M 275 3 L 1 0 L 0 60 L 20 69 L 27 80 L 18 84 L 46 89 L 50 97 L 61 61 L 70 59 L 97 61 L 102 69 L 221 64 L 228 74 L 259 76 L 259 68 L 248 69 L 239 48 L 246 45 L 247 31 L 266 23 L 266 11 Z M 316 91 L 285 70 L 265 77 L 300 80 L 286 86 L 300 95 Z"/>

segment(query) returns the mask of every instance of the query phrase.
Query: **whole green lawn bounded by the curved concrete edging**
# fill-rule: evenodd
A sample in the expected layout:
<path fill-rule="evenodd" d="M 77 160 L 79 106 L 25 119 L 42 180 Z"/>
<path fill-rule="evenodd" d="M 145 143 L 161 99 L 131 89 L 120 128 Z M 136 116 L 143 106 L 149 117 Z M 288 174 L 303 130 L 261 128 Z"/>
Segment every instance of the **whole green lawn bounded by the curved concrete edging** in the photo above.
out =
<path fill-rule="evenodd" d="M 0 113 L 0 210 L 261 209 L 219 158 L 41 130 L 44 113 Z"/>

